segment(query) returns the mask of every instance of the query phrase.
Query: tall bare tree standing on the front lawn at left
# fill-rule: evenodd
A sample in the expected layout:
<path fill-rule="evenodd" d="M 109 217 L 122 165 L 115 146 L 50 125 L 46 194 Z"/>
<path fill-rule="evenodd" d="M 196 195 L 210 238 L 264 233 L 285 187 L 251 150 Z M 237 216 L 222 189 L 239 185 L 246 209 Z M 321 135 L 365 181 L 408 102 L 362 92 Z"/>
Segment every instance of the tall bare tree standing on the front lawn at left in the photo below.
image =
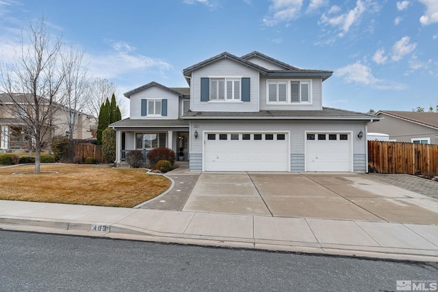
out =
<path fill-rule="evenodd" d="M 35 173 L 40 173 L 41 149 L 53 131 L 55 111 L 63 103 L 66 73 L 60 64 L 61 47 L 61 38 L 51 37 L 44 18 L 29 21 L 13 62 L 1 64 L 1 88 L 14 103 L 16 117 L 35 147 Z"/>

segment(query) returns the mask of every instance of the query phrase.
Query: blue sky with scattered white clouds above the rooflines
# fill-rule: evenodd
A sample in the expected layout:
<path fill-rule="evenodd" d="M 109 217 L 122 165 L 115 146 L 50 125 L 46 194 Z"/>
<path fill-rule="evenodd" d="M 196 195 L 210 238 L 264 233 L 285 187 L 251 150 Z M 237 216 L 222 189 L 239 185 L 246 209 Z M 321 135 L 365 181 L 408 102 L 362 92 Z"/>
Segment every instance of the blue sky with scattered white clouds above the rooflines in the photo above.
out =
<path fill-rule="evenodd" d="M 438 0 L 0 0 L 0 61 L 42 15 L 122 97 L 150 81 L 188 86 L 183 68 L 224 51 L 259 51 L 333 70 L 323 83 L 327 107 L 438 105 Z"/>

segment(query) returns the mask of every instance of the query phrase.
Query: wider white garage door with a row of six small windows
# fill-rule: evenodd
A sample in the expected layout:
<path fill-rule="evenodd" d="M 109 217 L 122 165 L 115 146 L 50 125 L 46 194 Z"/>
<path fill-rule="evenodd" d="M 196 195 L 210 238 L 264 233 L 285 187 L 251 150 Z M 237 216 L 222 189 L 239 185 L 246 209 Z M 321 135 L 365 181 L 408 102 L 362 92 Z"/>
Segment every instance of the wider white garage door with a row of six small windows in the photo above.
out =
<path fill-rule="evenodd" d="M 288 171 L 287 133 L 205 133 L 205 171 Z"/>

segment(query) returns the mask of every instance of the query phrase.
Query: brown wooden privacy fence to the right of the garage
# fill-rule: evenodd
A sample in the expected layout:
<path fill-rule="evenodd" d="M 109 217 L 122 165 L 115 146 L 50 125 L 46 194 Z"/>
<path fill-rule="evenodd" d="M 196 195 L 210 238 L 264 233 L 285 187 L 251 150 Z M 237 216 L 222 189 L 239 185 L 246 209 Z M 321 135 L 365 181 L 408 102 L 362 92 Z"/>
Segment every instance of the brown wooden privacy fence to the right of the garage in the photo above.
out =
<path fill-rule="evenodd" d="M 438 175 L 438 145 L 368 141 L 368 171 Z"/>

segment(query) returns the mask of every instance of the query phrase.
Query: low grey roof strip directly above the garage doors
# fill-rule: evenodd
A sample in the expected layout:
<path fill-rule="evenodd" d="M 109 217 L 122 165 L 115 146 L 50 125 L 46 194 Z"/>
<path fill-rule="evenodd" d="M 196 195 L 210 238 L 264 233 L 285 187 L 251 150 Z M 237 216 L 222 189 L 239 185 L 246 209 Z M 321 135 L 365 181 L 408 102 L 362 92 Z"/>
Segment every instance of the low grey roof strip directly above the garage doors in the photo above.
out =
<path fill-rule="evenodd" d="M 363 114 L 357 111 L 322 107 L 322 110 L 307 111 L 188 111 L 183 119 L 187 120 L 361 120 L 377 122 L 381 118 L 372 114 Z"/>

